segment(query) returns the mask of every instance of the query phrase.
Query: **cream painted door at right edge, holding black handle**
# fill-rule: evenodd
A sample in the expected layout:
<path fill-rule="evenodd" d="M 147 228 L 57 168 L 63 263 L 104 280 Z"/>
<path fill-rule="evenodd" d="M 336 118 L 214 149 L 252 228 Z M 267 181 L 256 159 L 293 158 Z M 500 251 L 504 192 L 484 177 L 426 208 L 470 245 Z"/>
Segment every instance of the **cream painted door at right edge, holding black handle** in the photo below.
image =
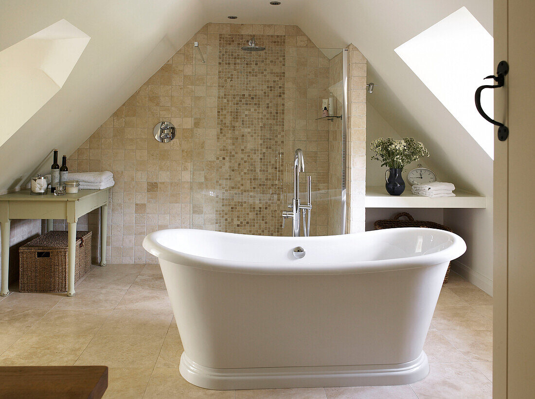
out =
<path fill-rule="evenodd" d="M 535 1 L 494 0 L 494 397 L 535 397 Z"/>

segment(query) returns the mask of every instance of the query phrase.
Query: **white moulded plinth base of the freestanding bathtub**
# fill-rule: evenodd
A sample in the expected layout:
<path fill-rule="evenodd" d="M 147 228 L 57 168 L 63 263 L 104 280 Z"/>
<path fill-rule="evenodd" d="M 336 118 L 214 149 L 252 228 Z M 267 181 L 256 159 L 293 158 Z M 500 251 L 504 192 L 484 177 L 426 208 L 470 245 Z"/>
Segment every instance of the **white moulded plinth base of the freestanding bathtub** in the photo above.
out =
<path fill-rule="evenodd" d="M 212 368 L 201 366 L 182 353 L 180 374 L 207 389 L 266 389 L 403 385 L 429 373 L 424 351 L 412 362 L 362 366 Z"/>

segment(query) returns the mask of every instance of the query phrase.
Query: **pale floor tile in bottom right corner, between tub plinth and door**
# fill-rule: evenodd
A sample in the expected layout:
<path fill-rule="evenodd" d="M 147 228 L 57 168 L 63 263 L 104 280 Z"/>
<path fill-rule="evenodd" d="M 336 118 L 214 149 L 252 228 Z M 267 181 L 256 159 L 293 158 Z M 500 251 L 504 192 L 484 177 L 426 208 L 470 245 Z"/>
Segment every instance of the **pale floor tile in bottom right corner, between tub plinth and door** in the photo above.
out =
<path fill-rule="evenodd" d="M 421 381 L 412 383 L 412 390 L 423 398 L 491 398 L 492 383 L 470 363 L 434 363 Z"/>

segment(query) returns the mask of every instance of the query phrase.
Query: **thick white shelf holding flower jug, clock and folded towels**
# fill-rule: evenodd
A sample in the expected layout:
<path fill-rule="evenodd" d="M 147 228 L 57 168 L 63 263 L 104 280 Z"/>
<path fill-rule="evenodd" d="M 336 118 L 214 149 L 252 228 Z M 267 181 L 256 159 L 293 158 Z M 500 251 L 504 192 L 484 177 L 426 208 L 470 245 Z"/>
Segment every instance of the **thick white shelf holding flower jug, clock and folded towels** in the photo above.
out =
<path fill-rule="evenodd" d="M 455 190 L 455 197 L 429 198 L 412 194 L 407 184 L 401 195 L 390 195 L 382 187 L 366 187 L 366 208 L 486 208 L 487 199 L 464 190 Z"/>

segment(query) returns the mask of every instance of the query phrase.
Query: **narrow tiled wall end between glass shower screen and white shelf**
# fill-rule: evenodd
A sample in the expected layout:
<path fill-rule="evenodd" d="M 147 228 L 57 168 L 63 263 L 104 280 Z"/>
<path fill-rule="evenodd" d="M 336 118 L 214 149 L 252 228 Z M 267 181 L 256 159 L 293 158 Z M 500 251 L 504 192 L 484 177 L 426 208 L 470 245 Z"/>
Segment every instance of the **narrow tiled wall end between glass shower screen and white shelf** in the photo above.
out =
<path fill-rule="evenodd" d="M 366 209 L 366 58 L 349 45 L 349 125 L 347 134 L 348 232 L 364 231 Z"/>

